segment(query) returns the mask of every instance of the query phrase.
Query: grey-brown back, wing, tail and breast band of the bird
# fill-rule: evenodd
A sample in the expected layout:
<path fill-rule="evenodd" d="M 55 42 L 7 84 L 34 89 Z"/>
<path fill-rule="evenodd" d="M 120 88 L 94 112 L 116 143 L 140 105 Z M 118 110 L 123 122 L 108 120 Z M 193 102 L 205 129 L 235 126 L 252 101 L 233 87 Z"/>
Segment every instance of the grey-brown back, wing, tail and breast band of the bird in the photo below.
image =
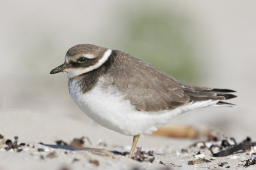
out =
<path fill-rule="evenodd" d="M 139 111 L 173 110 L 193 101 L 223 101 L 236 97 L 227 94 L 234 90 L 182 85 L 148 62 L 117 50 L 113 50 L 107 62 L 101 67 L 76 78 L 79 78 L 85 93 L 93 88 L 100 76 L 106 78 L 104 86 L 118 89 Z"/>

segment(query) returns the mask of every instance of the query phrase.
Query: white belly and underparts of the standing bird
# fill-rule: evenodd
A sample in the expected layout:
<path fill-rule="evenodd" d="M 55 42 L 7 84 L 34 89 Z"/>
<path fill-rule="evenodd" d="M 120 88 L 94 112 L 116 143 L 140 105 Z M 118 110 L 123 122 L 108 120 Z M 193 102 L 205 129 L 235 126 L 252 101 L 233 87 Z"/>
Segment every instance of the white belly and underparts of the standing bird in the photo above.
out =
<path fill-rule="evenodd" d="M 172 111 L 147 113 L 137 111 L 130 101 L 125 100 L 113 87 L 101 87 L 104 78 L 97 85 L 83 94 L 75 81 L 68 81 L 70 96 L 81 110 L 100 125 L 126 135 L 137 135 L 156 131 L 157 127 L 170 122 L 172 117 L 195 108 L 212 106 L 218 101 L 202 101 L 187 104 Z"/>

